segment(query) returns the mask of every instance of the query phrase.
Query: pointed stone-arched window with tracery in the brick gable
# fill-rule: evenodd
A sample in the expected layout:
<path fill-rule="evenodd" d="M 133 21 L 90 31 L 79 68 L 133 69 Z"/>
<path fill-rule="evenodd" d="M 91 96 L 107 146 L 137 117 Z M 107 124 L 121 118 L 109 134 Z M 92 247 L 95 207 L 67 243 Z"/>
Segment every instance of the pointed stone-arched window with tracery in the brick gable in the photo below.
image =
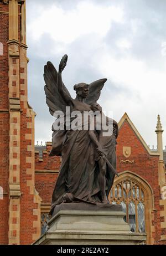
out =
<path fill-rule="evenodd" d="M 122 208 L 126 211 L 126 221 L 131 222 L 128 209 L 131 208 L 131 204 L 134 204 L 132 211 L 135 221 L 134 232 L 138 232 L 139 216 L 138 206 L 142 206 L 144 223 L 147 234 L 147 244 L 153 244 L 152 231 L 152 219 L 154 210 L 154 196 L 152 187 L 141 176 L 131 171 L 124 171 L 119 173 L 120 177 L 116 177 L 112 186 L 112 190 L 109 194 L 109 200 L 111 203 L 122 204 Z M 126 187 L 125 187 L 126 186 Z M 132 226 L 132 225 L 131 225 Z M 140 231 L 139 231 L 140 232 Z"/>

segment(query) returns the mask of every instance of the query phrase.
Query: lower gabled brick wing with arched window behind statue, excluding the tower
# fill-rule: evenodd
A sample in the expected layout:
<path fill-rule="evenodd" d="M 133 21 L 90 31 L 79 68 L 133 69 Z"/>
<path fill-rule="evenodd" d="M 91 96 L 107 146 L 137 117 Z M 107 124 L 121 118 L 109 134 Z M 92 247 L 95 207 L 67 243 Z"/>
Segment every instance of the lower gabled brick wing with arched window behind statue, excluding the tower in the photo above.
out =
<path fill-rule="evenodd" d="M 110 202 L 122 204 L 131 230 L 146 233 L 147 244 L 166 244 L 166 200 L 162 199 L 162 192 L 166 191 L 163 162 L 166 151 L 163 152 L 160 144 L 163 130 L 159 116 L 158 150 L 149 149 L 126 113 L 118 125 L 117 171 L 120 177 L 115 179 Z M 35 188 L 42 198 L 42 233 L 49 219 L 51 194 L 60 165 L 60 157 L 48 156 L 50 149 L 51 142 L 35 146 Z"/>

